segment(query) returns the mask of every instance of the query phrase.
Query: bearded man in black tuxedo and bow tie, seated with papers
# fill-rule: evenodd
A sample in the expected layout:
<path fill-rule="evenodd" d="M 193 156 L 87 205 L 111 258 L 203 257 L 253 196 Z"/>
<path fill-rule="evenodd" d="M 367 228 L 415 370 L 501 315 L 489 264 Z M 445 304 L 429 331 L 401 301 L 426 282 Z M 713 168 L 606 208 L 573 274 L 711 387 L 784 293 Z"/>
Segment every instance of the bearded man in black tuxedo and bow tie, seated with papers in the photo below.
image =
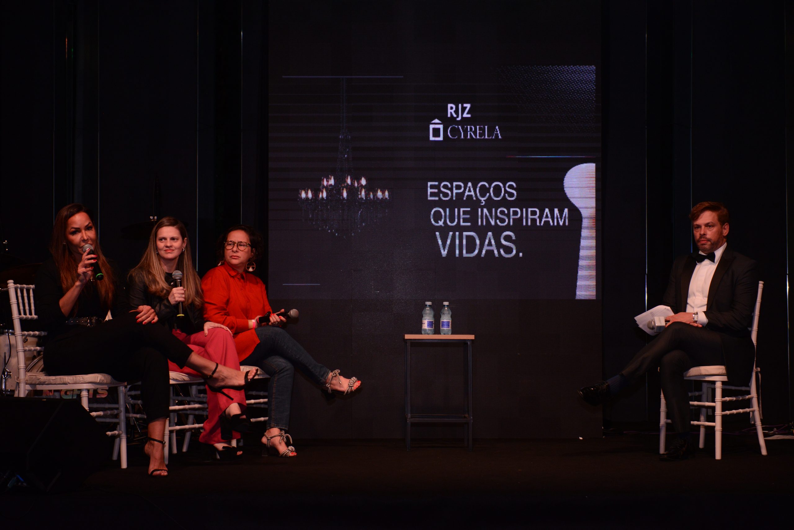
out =
<path fill-rule="evenodd" d="M 728 247 L 729 215 L 722 203 L 700 202 L 689 219 L 698 252 L 673 263 L 663 304 L 674 314 L 665 319 L 665 330 L 615 377 L 579 390 L 584 401 L 599 405 L 658 367 L 673 430 L 678 433 L 661 455 L 665 460 L 684 460 L 695 451 L 684 372 L 725 365 L 730 382 L 746 385 L 755 362 L 748 328 L 758 291 L 757 263 Z"/>

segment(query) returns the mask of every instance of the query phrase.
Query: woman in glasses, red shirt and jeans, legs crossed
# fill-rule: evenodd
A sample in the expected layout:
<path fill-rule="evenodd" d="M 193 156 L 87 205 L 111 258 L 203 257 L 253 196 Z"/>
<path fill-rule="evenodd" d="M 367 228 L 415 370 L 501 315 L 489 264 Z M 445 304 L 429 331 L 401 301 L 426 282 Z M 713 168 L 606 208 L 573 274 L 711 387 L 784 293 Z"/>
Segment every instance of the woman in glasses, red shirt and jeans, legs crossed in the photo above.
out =
<path fill-rule="evenodd" d="M 256 259 L 263 255 L 262 236 L 247 225 L 226 230 L 218 240 L 221 263 L 202 278 L 204 317 L 225 325 L 234 334 L 241 363 L 258 366 L 270 376 L 268 385 L 268 430 L 262 443 L 281 456 L 295 456 L 287 446 L 284 432 L 289 428 L 290 401 L 295 368 L 328 392 L 349 394 L 357 390 L 357 378 L 343 378 L 338 370 L 330 371 L 279 326 L 286 320 L 272 313 L 264 283 L 249 274 Z M 269 313 L 269 323 L 260 325 L 259 317 Z"/>

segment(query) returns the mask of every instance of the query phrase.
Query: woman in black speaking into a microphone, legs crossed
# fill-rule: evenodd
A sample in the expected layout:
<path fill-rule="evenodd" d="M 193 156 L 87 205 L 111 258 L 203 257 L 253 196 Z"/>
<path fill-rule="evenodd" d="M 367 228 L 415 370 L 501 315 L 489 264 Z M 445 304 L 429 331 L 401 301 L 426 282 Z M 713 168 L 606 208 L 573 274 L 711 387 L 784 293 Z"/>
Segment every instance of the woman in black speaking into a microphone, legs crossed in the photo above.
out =
<path fill-rule="evenodd" d="M 48 332 L 44 369 L 51 375 L 106 373 L 118 381 L 141 381 L 148 473 L 165 476 L 168 359 L 218 388 L 242 388 L 247 376 L 204 359 L 168 329 L 151 325 L 157 321 L 154 309 L 129 305 L 115 263 L 102 254 L 92 217 L 81 204 L 60 209 L 52 227 L 52 258 L 36 276 L 36 305 Z"/>

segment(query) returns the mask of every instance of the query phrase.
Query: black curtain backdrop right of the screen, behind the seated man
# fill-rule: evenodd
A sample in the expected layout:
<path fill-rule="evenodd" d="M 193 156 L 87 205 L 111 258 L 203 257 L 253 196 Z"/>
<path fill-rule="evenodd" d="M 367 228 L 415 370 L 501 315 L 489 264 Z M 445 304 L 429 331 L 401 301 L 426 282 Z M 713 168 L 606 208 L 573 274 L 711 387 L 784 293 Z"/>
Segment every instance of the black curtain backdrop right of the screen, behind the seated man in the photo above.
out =
<path fill-rule="evenodd" d="M 604 375 L 647 340 L 628 319 L 661 301 L 674 256 L 692 251 L 689 209 L 724 202 L 728 244 L 759 261 L 765 282 L 757 344 L 765 424 L 792 414 L 787 6 L 790 17 L 787 2 L 604 3 Z M 604 416 L 655 421 L 658 409 L 658 375 L 649 374 Z"/>

